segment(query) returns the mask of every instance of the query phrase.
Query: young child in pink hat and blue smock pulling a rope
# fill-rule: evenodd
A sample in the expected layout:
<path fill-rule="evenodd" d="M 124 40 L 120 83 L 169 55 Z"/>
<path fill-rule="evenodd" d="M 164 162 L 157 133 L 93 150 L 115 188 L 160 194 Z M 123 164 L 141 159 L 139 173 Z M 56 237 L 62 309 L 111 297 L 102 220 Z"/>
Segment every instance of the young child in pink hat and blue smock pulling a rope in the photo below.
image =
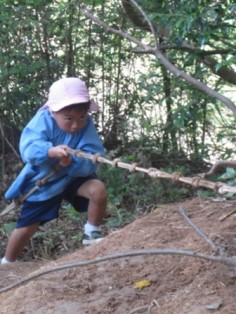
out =
<path fill-rule="evenodd" d="M 24 128 L 20 153 L 24 168 L 5 193 L 16 199 L 29 192 L 38 180 L 57 166 L 48 182 L 24 202 L 16 228 L 12 232 L 2 264 L 14 262 L 40 224 L 58 217 L 63 199 L 80 212 L 87 211 L 83 244 L 101 241 L 101 224 L 106 211 L 104 184 L 96 176 L 97 165 L 77 158 L 68 149 L 103 154 L 89 110 L 97 111 L 87 87 L 79 78 L 63 78 L 52 84 L 46 104 Z"/>

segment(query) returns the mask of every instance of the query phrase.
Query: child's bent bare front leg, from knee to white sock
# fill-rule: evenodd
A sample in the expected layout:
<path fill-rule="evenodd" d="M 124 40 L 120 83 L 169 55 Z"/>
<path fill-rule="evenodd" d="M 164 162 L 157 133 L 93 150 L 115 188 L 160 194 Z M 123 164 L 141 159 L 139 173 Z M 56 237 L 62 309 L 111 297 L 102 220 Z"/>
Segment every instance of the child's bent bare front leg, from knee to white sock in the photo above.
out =
<path fill-rule="evenodd" d="M 107 208 L 107 194 L 104 184 L 96 179 L 86 181 L 78 189 L 77 194 L 89 199 L 88 222 L 93 226 L 100 226 Z"/>

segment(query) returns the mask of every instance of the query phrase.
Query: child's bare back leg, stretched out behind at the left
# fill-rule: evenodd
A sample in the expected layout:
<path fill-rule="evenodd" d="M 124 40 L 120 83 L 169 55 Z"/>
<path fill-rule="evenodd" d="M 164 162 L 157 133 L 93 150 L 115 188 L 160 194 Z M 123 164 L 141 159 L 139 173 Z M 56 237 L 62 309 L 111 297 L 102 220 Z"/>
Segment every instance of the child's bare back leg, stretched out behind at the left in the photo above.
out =
<path fill-rule="evenodd" d="M 8 262 L 14 262 L 20 255 L 21 251 L 37 231 L 39 223 L 31 226 L 15 229 L 8 240 L 5 258 Z"/>

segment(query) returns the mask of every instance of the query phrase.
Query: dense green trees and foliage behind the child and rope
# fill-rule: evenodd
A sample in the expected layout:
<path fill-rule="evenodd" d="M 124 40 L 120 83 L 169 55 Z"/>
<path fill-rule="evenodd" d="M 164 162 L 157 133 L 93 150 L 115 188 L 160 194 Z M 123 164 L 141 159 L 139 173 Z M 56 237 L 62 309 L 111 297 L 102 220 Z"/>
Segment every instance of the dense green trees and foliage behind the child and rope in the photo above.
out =
<path fill-rule="evenodd" d="M 99 102 L 94 119 L 110 158 L 184 175 L 202 172 L 209 160 L 234 158 L 235 18 L 233 0 L 2 1 L 3 179 L 11 179 L 9 154 L 19 158 L 22 128 L 63 76 L 84 79 Z M 121 221 L 128 207 L 193 192 L 119 169 L 100 171 Z"/>

